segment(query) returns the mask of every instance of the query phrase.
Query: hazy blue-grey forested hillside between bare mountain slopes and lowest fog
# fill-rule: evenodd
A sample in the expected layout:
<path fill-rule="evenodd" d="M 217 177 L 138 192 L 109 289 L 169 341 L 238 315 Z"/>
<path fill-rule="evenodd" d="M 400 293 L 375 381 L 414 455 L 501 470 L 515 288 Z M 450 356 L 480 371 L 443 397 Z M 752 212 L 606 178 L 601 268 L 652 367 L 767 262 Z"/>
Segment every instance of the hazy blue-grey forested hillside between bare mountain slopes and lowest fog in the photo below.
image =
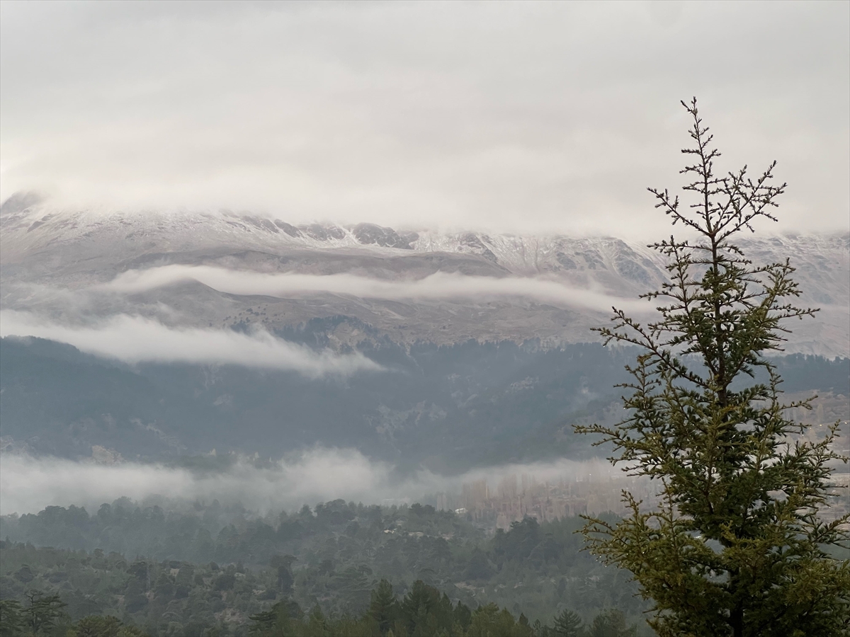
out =
<path fill-rule="evenodd" d="M 323 347 L 332 321 L 286 334 Z M 632 353 L 578 344 L 391 342 L 365 348 L 388 371 L 311 380 L 234 366 L 138 364 L 40 339 L 0 340 L 3 445 L 80 459 L 98 445 L 125 459 L 212 448 L 263 457 L 315 444 L 453 473 L 474 466 L 587 458 L 572 435 L 619 396 Z M 779 358 L 785 391 L 847 392 L 850 360 Z"/>

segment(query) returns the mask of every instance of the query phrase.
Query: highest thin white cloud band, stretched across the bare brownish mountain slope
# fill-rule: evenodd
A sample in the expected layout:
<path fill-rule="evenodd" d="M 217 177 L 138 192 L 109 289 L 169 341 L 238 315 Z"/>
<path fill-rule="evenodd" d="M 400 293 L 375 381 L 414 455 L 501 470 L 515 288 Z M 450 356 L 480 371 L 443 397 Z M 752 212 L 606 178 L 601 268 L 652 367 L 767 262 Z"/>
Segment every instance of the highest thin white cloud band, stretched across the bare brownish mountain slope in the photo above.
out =
<path fill-rule="evenodd" d="M 567 307 L 609 311 L 612 305 L 647 310 L 646 302 L 609 296 L 604 290 L 574 288 L 547 279 L 466 276 L 433 273 L 423 279 L 388 281 L 354 274 L 258 273 L 210 266 L 167 265 L 119 274 L 100 290 L 138 293 L 164 285 L 195 280 L 214 290 L 235 295 L 298 296 L 326 292 L 387 300 L 525 297 Z"/>

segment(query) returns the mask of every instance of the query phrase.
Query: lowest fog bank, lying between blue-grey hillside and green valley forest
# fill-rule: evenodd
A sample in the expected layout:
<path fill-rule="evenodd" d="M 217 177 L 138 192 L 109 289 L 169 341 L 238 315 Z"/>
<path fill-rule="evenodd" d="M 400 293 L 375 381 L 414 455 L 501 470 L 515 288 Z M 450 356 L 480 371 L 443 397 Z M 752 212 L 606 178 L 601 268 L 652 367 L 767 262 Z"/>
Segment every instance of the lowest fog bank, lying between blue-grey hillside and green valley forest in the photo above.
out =
<path fill-rule="evenodd" d="M 506 477 L 534 476 L 538 482 L 623 476 L 603 459 L 557 460 L 529 465 L 499 465 L 460 476 L 420 471 L 399 479 L 392 465 L 366 458 L 356 449 L 316 448 L 259 469 L 240 458 L 226 471 L 198 473 L 159 464 L 92 462 L 3 454 L 0 514 L 35 513 L 45 506 L 96 509 L 122 496 L 144 500 L 218 499 L 249 510 L 293 510 L 331 499 L 365 504 L 416 502 L 426 493 L 459 493 L 464 483 L 486 480 L 497 488 Z"/>

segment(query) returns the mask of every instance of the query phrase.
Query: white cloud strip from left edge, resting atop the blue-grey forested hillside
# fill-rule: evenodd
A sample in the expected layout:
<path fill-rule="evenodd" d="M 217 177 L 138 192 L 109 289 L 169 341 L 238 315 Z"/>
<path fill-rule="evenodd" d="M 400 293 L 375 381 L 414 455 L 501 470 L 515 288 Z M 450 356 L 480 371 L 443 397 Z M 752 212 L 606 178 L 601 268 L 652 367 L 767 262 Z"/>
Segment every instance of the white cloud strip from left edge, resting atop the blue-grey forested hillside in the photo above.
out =
<path fill-rule="evenodd" d="M 265 330 L 177 329 L 155 320 L 119 316 L 89 326 L 67 326 L 31 313 L 0 312 L 0 336 L 37 336 L 60 341 L 127 363 L 235 364 L 296 371 L 309 377 L 350 375 L 382 369 L 359 352 L 315 352 L 276 338 Z"/>

